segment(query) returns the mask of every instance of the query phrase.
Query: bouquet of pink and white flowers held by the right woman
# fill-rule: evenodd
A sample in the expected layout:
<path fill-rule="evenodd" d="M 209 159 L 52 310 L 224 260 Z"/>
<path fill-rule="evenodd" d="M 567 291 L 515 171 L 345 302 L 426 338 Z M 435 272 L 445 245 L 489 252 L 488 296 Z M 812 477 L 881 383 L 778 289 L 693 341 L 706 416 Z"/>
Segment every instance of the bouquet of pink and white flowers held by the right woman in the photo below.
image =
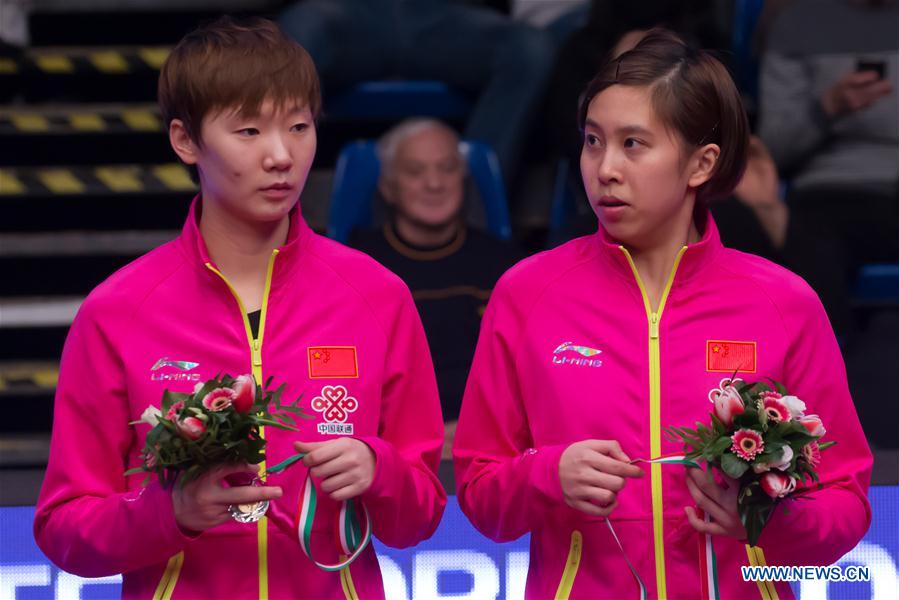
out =
<path fill-rule="evenodd" d="M 669 427 L 672 439 L 685 445 L 687 459 L 703 459 L 739 482 L 737 507 L 751 546 L 781 499 L 797 496 L 806 479 L 818 481 L 815 467 L 826 433 L 817 415 L 805 414 L 805 403 L 771 381 L 746 383 L 723 379 L 709 392 L 714 403 L 711 427 Z"/>

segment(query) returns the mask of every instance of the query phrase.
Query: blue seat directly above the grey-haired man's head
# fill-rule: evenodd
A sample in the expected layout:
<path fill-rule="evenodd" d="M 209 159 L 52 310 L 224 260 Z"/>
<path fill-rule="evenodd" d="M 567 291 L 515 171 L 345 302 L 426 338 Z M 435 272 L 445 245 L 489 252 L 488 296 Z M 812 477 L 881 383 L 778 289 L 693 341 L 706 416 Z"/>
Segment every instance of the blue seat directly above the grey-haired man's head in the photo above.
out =
<path fill-rule="evenodd" d="M 402 119 L 411 116 L 462 120 L 471 101 L 442 81 L 365 81 L 327 99 L 328 119 Z"/>

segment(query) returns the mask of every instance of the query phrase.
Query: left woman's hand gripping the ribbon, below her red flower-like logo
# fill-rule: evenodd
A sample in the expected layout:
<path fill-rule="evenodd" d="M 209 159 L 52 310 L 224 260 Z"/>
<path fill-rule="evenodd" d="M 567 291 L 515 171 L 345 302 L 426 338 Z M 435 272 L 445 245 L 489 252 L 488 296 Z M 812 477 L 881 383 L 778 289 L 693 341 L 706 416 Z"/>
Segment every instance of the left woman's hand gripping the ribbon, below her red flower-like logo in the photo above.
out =
<path fill-rule="evenodd" d="M 294 442 L 297 452 L 305 452 L 303 464 L 321 480 L 321 489 L 342 502 L 368 491 L 375 478 L 375 453 L 368 444 L 343 437 L 327 442 Z"/>

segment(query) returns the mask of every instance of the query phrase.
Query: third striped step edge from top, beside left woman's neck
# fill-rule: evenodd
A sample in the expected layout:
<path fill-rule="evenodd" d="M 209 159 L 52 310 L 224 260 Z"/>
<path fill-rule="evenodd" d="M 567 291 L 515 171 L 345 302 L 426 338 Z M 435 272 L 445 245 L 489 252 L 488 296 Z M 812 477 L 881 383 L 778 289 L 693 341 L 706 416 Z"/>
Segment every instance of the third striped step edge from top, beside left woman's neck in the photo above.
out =
<path fill-rule="evenodd" d="M 0 168 L 0 198 L 194 192 L 180 163 Z"/>

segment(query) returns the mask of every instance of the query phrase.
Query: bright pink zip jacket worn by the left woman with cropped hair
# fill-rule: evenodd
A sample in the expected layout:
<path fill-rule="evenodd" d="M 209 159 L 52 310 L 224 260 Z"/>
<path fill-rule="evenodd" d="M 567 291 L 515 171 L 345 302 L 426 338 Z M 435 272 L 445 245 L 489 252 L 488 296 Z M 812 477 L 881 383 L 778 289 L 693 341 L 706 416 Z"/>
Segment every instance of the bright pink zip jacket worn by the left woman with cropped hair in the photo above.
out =
<path fill-rule="evenodd" d="M 350 568 L 319 570 L 291 531 L 302 464 L 270 475 L 284 487 L 258 524 L 182 534 L 170 492 L 122 473 L 139 464 L 148 425 L 129 426 L 163 390 L 190 392 L 219 372 L 253 372 L 302 394 L 312 415 L 300 433 L 269 428 L 266 464 L 294 440 L 346 433 L 376 456 L 362 496 L 374 534 L 411 546 L 436 529 L 446 494 L 436 470 L 443 424 L 418 313 L 401 280 L 373 260 L 313 233 L 292 215 L 287 243 L 269 262 L 259 338 L 217 273 L 194 201 L 183 233 L 126 266 L 85 300 L 63 351 L 50 462 L 35 515 L 40 548 L 60 568 L 93 577 L 124 573 L 125 598 L 381 598 L 374 550 Z M 325 390 L 328 387 L 330 390 Z M 315 397 L 336 401 L 321 412 Z M 354 398 L 353 402 L 343 402 Z M 333 409 L 333 410 L 330 410 Z M 315 558 L 338 561 L 336 512 L 325 494 Z"/>

